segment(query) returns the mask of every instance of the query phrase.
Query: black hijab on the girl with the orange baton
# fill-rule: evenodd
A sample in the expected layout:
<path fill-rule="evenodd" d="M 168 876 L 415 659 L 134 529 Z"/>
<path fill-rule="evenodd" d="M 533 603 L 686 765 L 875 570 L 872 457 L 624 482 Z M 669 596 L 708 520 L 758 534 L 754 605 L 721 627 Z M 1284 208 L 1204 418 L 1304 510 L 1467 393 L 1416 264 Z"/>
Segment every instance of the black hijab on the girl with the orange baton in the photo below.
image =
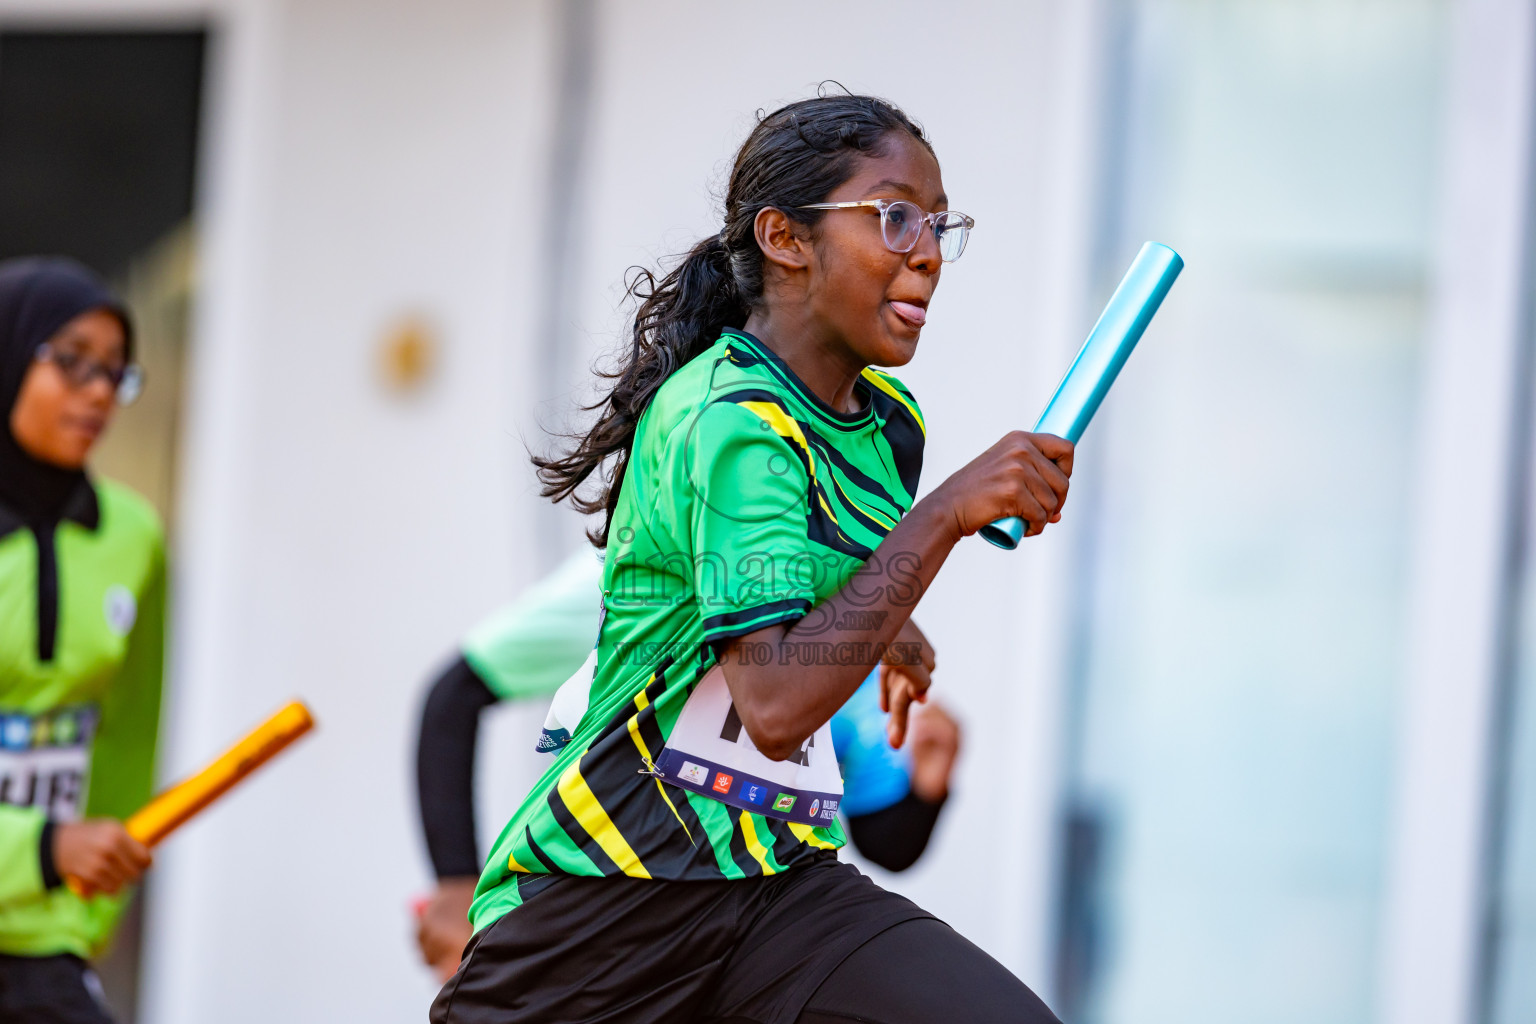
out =
<path fill-rule="evenodd" d="M 71 494 L 86 485 L 86 476 L 29 456 L 11 434 L 11 411 L 37 347 L 75 316 L 97 309 L 123 321 L 124 355 L 132 359 L 127 312 L 95 273 L 63 256 L 0 263 L 0 504 L 34 525 L 57 522 Z"/>

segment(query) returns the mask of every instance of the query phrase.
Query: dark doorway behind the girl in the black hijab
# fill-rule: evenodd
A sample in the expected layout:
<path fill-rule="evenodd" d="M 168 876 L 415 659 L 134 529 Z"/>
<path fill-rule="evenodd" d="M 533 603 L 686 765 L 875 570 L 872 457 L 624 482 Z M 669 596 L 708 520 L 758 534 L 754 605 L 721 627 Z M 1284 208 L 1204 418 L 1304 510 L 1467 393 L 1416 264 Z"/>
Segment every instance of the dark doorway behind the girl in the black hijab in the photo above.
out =
<path fill-rule="evenodd" d="M 206 32 L 0 31 L 0 258 L 61 253 L 132 310 L 144 396 L 92 453 L 172 527 Z M 154 884 L 154 872 L 146 880 Z M 143 894 L 97 970 L 121 1024 L 138 1009 Z"/>

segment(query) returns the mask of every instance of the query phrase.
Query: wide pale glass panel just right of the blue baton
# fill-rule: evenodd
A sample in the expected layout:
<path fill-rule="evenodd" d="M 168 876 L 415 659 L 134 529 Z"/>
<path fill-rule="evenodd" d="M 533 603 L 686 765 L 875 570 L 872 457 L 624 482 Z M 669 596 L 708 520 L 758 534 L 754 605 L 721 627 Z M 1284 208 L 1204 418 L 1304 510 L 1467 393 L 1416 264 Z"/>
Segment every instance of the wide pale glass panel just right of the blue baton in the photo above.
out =
<path fill-rule="evenodd" d="M 1373 1018 L 1445 5 L 1130 0 L 1058 958 L 1083 1022 Z"/>

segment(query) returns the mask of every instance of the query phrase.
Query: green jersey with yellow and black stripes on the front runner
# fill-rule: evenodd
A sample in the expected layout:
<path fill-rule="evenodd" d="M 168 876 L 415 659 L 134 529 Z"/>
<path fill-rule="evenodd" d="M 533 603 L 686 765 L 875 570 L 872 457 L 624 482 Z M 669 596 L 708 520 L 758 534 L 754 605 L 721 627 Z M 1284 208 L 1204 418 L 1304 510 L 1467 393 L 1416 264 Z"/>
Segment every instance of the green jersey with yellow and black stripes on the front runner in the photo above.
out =
<path fill-rule="evenodd" d="M 917 402 L 874 368 L 856 393 L 840 413 L 730 330 L 656 393 L 610 524 L 588 711 L 498 838 L 476 930 L 548 875 L 746 878 L 842 846 L 836 821 L 739 811 L 654 763 L 714 645 L 817 614 L 912 507 Z"/>

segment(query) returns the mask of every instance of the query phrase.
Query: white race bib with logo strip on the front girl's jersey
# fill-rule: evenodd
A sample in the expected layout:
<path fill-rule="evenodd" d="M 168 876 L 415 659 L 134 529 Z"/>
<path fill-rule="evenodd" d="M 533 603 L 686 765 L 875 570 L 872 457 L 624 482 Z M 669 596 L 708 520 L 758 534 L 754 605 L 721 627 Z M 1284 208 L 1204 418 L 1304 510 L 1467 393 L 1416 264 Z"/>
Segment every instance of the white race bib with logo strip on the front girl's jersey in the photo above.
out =
<path fill-rule="evenodd" d="M 673 786 L 802 824 L 829 824 L 843 795 L 833 726 L 817 729 L 793 757 L 770 760 L 742 728 L 719 666 L 682 706 L 656 771 Z"/>

